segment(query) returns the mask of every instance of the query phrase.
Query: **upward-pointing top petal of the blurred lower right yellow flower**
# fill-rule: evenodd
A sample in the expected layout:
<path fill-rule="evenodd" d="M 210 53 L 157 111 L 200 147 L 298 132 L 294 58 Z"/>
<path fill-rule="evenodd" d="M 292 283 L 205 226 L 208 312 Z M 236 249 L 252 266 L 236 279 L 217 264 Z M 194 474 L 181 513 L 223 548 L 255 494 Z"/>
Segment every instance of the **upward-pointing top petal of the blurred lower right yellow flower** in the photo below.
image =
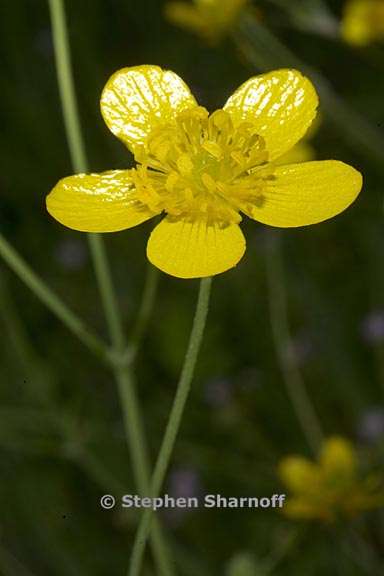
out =
<path fill-rule="evenodd" d="M 320 466 L 326 478 L 354 480 L 358 462 L 352 444 L 344 438 L 329 438 L 321 451 Z"/>

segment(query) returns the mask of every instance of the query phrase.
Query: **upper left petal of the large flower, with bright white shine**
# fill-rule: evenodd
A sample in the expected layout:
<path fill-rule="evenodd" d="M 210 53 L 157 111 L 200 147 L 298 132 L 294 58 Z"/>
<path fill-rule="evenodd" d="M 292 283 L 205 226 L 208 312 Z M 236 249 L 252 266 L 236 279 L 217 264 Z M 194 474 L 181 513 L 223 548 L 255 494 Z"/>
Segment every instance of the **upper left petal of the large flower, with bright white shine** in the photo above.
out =
<path fill-rule="evenodd" d="M 132 151 L 154 128 L 197 106 L 183 80 L 158 66 L 119 70 L 108 80 L 100 104 L 108 128 Z"/>

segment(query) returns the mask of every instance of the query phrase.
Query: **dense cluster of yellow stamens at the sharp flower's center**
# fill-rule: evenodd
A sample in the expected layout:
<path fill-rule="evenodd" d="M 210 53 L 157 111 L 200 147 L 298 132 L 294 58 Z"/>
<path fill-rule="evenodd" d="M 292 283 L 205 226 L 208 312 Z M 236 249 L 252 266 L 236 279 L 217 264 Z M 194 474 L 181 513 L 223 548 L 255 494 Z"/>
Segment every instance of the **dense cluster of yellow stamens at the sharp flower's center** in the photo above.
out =
<path fill-rule="evenodd" d="M 224 110 L 209 116 L 197 107 L 154 130 L 136 151 L 138 199 L 177 218 L 239 222 L 240 210 L 249 213 L 263 201 L 272 173 L 267 158 L 251 123 L 234 126 Z"/>

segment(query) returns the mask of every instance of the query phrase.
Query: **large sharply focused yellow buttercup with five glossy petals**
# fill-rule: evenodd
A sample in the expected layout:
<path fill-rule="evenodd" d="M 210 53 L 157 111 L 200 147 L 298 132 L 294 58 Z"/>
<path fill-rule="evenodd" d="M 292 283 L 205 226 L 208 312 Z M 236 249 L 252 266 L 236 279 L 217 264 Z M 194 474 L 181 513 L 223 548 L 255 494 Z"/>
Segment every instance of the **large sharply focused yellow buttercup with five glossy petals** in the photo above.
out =
<path fill-rule="evenodd" d="M 107 82 L 101 111 L 136 168 L 64 178 L 48 211 L 85 232 L 124 230 L 165 213 L 148 241 L 152 264 L 179 278 L 219 274 L 244 254 L 241 212 L 271 226 L 305 226 L 358 195 L 362 177 L 342 162 L 276 163 L 305 134 L 317 105 L 296 70 L 251 78 L 209 115 L 173 72 L 124 68 Z"/>

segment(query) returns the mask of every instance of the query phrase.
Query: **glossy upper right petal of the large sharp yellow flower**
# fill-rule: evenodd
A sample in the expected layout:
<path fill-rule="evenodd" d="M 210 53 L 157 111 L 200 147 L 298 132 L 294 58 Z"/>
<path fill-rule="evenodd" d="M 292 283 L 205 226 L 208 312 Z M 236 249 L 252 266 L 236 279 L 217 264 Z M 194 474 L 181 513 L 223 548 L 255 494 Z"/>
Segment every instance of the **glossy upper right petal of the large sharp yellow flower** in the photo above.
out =
<path fill-rule="evenodd" d="M 317 106 L 316 91 L 307 78 L 297 70 L 276 70 L 245 82 L 224 110 L 235 123 L 252 122 L 266 142 L 268 160 L 274 160 L 304 136 Z"/>

